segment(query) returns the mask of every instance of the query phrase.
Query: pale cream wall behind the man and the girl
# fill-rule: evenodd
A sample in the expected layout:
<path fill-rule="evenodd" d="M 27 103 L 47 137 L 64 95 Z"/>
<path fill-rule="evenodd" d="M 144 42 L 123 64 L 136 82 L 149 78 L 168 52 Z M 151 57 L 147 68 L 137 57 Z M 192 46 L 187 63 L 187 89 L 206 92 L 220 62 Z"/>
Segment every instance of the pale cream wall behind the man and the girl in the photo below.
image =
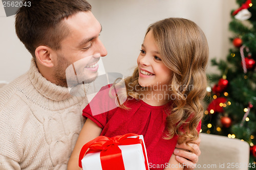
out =
<path fill-rule="evenodd" d="M 101 40 L 109 54 L 103 59 L 108 72 L 131 75 L 146 28 L 167 17 L 195 21 L 208 39 L 210 58 L 226 58 L 230 43 L 228 23 L 235 0 L 89 0 L 102 25 Z M 12 81 L 25 73 L 30 54 L 18 40 L 14 16 L 6 17 L 0 3 L 0 81 Z M 215 68 L 208 67 L 207 71 Z"/>

